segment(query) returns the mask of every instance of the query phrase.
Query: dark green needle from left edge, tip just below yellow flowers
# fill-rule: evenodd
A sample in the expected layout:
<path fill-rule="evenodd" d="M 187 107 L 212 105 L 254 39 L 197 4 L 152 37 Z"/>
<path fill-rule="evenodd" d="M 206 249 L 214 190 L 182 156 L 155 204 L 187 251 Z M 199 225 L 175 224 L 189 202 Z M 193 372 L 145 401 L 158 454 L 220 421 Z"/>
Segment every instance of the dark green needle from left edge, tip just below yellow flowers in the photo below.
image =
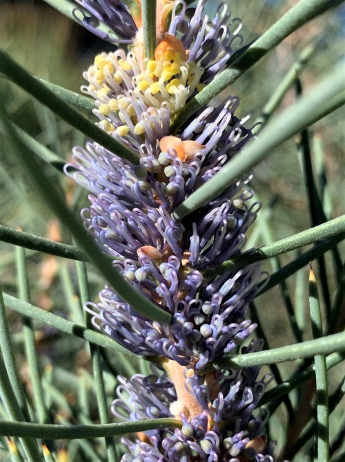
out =
<path fill-rule="evenodd" d="M 17 83 L 23 90 L 32 94 L 34 98 L 38 99 L 38 101 L 55 112 L 61 119 L 72 125 L 72 127 L 77 128 L 77 130 L 87 137 L 90 137 L 93 141 L 101 144 L 104 148 L 114 152 L 119 157 L 127 159 L 135 165 L 139 165 L 137 154 L 119 143 L 115 138 L 110 137 L 108 133 L 98 128 L 95 123 L 72 108 L 70 104 L 57 97 L 39 79 L 35 79 L 35 77 L 19 66 L 18 63 L 2 50 L 0 50 L 0 72 L 5 74 L 12 82 Z"/>

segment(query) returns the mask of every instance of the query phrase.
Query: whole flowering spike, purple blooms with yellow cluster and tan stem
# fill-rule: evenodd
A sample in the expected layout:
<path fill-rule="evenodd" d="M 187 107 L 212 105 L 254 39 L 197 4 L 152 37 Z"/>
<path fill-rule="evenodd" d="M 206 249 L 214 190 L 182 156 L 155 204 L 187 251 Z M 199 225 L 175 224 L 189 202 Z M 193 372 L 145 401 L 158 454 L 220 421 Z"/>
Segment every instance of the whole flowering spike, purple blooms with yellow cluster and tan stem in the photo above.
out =
<path fill-rule="evenodd" d="M 238 352 L 255 329 L 248 305 L 266 274 L 256 264 L 213 278 L 204 274 L 242 251 L 260 208 L 250 205 L 251 175 L 190 217 L 172 217 L 253 139 L 248 117 L 235 115 L 235 96 L 220 108 L 201 108 L 170 133 L 179 110 L 241 46 L 241 21 L 224 5 L 208 19 L 204 0 L 194 9 L 184 1 L 157 1 L 157 48 L 147 59 L 139 1 L 132 2 L 132 16 L 118 0 L 80 3 L 88 28 L 110 40 L 97 29 L 106 24 L 120 43 L 132 41 L 128 53 L 99 54 L 82 90 L 95 98 L 99 126 L 137 153 L 139 165 L 88 143 L 74 149 L 66 172 L 90 191 L 90 206 L 81 211 L 90 234 L 127 281 L 172 315 L 170 325 L 150 321 L 108 286 L 99 303 L 86 304 L 96 328 L 156 364 L 150 376 L 119 378 L 113 413 L 126 421 L 181 421 L 181 429 L 123 439 L 128 454 L 122 461 L 273 461 L 264 416 L 253 416 L 271 377 L 258 379 L 258 368 L 212 368 L 224 354 Z M 260 341 L 250 341 L 242 352 L 260 348 Z"/>

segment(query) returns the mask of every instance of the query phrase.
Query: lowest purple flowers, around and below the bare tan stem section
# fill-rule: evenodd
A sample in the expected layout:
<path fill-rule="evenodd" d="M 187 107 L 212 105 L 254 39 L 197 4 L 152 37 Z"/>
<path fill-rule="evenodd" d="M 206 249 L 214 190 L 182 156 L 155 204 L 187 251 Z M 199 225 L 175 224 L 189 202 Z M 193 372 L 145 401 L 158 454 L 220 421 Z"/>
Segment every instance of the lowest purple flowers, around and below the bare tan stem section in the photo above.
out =
<path fill-rule="evenodd" d="M 252 343 L 249 348 L 253 351 L 260 346 Z M 256 381 L 259 370 L 254 369 L 217 372 L 212 383 L 204 385 L 209 396 L 200 414 L 191 418 L 181 414 L 181 430 L 150 430 L 135 442 L 122 439 L 130 450 L 122 461 L 273 461 L 272 447 L 264 434 L 264 415 L 255 418 L 252 414 L 271 378 L 264 376 Z M 119 398 L 112 403 L 112 412 L 119 419 L 137 421 L 174 415 L 177 396 L 165 374 L 137 374 L 132 379 L 121 377 L 120 381 Z M 201 381 L 201 377 L 195 381 Z M 193 396 L 195 390 L 190 401 Z"/>

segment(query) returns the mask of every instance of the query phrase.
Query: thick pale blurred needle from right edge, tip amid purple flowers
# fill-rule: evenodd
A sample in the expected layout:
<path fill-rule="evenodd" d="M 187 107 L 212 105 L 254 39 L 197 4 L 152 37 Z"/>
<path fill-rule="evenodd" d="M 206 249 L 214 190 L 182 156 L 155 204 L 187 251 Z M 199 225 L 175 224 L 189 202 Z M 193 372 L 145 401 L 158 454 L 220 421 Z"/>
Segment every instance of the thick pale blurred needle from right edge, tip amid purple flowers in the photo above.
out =
<path fill-rule="evenodd" d="M 307 127 L 314 117 L 315 110 L 318 110 L 320 105 L 323 105 L 329 98 L 335 97 L 344 89 L 344 73 L 345 66 L 338 66 L 332 74 L 328 75 L 309 94 L 302 97 L 291 108 L 285 110 L 279 117 L 276 117 L 262 130 L 257 141 L 250 143 L 241 154 L 228 161 L 215 174 L 215 177 L 193 192 L 186 201 L 182 202 L 172 212 L 172 217 L 175 220 L 181 220 L 204 203 L 208 203 L 226 190 L 233 181 L 240 178 L 244 172 L 248 172 L 265 157 L 272 154 L 275 148 L 286 139 Z"/>

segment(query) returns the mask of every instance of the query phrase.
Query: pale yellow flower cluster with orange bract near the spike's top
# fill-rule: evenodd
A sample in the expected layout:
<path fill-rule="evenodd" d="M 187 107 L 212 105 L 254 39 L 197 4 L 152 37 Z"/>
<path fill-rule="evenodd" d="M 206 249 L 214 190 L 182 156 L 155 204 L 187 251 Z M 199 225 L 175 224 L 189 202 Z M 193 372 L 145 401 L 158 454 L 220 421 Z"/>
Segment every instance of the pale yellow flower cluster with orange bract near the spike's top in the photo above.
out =
<path fill-rule="evenodd" d="M 144 59 L 144 63 L 137 61 L 134 52 L 99 54 L 84 73 L 89 86 L 83 90 L 95 97 L 104 130 L 119 137 L 128 132 L 144 135 L 141 114 L 148 108 L 168 107 L 172 120 L 195 89 L 199 90 L 202 73 L 202 68 L 188 63 L 181 41 L 166 34 L 154 59 Z"/>

